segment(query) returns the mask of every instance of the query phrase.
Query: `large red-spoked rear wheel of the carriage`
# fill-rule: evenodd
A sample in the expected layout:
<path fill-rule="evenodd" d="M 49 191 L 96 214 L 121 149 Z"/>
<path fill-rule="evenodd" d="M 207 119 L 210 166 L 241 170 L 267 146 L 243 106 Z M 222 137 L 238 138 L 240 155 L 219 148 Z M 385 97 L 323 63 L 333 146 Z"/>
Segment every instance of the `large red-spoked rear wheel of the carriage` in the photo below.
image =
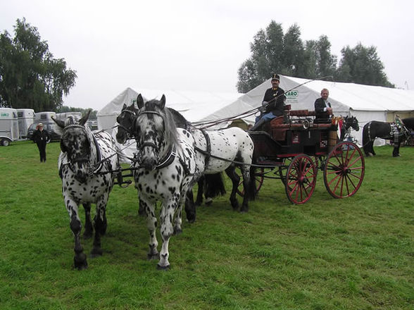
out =
<path fill-rule="evenodd" d="M 323 180 L 327 191 L 334 198 L 350 197 L 363 182 L 364 156 L 353 142 L 338 143 L 327 156 Z"/>

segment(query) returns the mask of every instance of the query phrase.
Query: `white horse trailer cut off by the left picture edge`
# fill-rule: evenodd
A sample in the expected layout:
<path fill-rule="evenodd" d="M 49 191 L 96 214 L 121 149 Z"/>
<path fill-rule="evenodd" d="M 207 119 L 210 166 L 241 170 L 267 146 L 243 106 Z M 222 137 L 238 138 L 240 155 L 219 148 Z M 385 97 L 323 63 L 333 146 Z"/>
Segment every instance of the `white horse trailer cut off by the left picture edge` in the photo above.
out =
<path fill-rule="evenodd" d="M 19 138 L 19 122 L 16 109 L 0 108 L 0 145 L 7 147 Z"/>

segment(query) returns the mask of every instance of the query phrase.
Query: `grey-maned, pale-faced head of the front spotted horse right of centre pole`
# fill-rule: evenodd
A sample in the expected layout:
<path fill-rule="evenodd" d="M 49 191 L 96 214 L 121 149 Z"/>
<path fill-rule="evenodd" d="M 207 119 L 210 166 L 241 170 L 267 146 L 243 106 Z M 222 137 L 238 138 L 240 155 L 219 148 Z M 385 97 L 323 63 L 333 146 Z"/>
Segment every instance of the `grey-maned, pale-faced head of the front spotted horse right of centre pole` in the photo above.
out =
<path fill-rule="evenodd" d="M 139 164 L 148 170 L 156 168 L 177 143 L 174 120 L 165 109 L 165 96 L 161 100 L 144 102 L 141 94 L 137 97 L 138 114 L 134 122 Z"/>

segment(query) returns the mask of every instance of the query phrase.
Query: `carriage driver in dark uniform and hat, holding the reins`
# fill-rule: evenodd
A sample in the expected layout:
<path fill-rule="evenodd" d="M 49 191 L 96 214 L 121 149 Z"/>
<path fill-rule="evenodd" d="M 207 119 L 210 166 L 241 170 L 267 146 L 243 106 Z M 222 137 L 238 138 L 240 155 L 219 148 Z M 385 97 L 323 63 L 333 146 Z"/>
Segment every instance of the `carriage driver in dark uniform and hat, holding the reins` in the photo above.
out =
<path fill-rule="evenodd" d="M 264 111 L 261 113 L 261 116 L 256 118 L 256 123 L 251 130 L 256 130 L 264 123 L 283 115 L 286 96 L 284 96 L 284 90 L 279 87 L 279 75 L 273 74 L 271 82 L 272 87 L 266 89 L 265 96 L 263 97 L 262 111 Z"/>

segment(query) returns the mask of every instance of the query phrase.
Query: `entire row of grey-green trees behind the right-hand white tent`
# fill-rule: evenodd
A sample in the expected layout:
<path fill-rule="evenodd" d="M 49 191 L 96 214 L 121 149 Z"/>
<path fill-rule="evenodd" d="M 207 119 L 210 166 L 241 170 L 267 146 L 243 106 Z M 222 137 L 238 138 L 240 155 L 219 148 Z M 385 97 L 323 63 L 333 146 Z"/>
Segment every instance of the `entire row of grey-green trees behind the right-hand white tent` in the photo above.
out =
<path fill-rule="evenodd" d="M 332 76 L 336 82 L 395 87 L 384 73 L 375 46 L 346 46 L 338 61 L 326 35 L 303 42 L 296 24 L 284 33 L 282 24 L 272 20 L 265 30 L 256 33 L 250 49 L 251 56 L 238 70 L 238 92 L 249 92 L 272 73 L 307 79 Z"/>

